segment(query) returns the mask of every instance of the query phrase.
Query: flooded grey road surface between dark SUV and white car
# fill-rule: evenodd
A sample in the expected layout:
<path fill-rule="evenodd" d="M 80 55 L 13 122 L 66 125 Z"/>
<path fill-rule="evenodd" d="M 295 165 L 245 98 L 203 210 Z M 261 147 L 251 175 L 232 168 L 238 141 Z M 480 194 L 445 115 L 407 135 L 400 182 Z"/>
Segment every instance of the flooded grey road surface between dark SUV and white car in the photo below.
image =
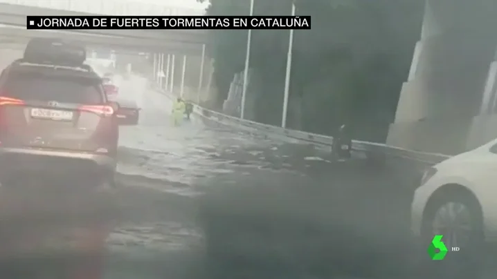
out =
<path fill-rule="evenodd" d="M 417 166 L 331 162 L 327 150 L 201 119 L 174 127 L 167 97 L 147 90 L 145 79 L 121 82 L 122 97 L 143 110 L 140 125 L 121 130 L 126 209 L 108 240 L 108 278 L 371 278 L 385 268 L 395 276 L 410 270 L 399 247 L 410 244 Z"/>

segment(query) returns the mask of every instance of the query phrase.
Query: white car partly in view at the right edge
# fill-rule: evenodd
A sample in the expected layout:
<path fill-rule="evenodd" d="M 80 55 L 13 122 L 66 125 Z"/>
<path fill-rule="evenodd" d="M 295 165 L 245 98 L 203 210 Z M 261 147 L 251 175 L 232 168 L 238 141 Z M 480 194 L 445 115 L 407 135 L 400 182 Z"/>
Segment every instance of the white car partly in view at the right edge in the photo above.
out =
<path fill-rule="evenodd" d="M 424 173 L 411 206 L 411 229 L 425 243 L 443 235 L 449 252 L 497 242 L 497 140 Z"/>

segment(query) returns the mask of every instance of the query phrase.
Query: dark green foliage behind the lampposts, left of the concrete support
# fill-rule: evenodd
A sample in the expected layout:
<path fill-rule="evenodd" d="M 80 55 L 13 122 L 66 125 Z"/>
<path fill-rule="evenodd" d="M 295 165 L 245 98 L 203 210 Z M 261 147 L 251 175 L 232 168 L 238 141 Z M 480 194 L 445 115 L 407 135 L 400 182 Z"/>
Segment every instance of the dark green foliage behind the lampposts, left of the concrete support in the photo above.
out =
<path fill-rule="evenodd" d="M 202 0 L 200 0 L 202 1 Z M 255 15 L 289 15 L 292 0 L 255 0 Z M 419 39 L 424 1 L 296 0 L 311 30 L 294 32 L 289 123 L 315 133 L 354 125 L 358 136 L 383 140 Z M 208 15 L 249 15 L 250 0 L 210 0 Z M 280 124 L 288 30 L 253 30 L 250 66 L 257 75 L 257 121 Z M 213 30 L 218 104 L 243 70 L 247 32 Z M 370 128 L 369 130 L 366 128 Z M 373 127 L 373 128 L 371 128 Z M 362 133 L 361 133 L 362 132 Z M 378 132 L 378 133 L 377 133 Z"/>

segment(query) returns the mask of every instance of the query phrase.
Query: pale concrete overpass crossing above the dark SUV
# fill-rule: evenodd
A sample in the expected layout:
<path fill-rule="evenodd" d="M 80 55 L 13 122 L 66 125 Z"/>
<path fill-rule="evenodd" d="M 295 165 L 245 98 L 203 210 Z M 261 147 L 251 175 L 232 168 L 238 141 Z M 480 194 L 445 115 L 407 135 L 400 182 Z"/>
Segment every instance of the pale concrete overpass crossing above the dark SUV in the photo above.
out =
<path fill-rule="evenodd" d="M 101 0 L 100 6 L 90 1 L 0 0 L 0 47 L 10 53 L 7 60 L 19 58 L 31 37 L 59 37 L 79 41 L 87 48 L 102 46 L 123 55 L 138 52 L 153 54 L 153 73 L 164 89 L 182 95 L 207 99 L 201 91 L 210 84 L 212 63 L 205 56 L 205 30 L 26 30 L 27 15 L 201 15 L 199 10 L 150 5 L 141 2 Z M 7 3 L 5 3 L 7 2 Z M 114 3 L 115 2 L 115 3 Z M 75 4 L 78 4 L 75 7 Z M 129 4 L 132 4 L 131 6 Z M 122 56 L 122 55 L 121 55 Z M 166 59 L 167 57 L 167 59 Z M 12 58 L 12 59 L 11 59 Z M 8 64 L 5 61 L 3 64 Z M 7 65 L 6 64 L 6 65 Z M 152 68 L 152 67 L 151 67 Z M 210 86 L 207 86 L 210 87 Z"/>

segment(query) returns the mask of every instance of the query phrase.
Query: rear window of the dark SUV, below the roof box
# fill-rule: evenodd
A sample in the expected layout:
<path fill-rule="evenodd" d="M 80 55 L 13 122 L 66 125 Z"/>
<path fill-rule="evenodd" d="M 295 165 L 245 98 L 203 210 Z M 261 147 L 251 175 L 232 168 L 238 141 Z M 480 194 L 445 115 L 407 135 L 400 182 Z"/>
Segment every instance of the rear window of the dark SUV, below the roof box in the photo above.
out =
<path fill-rule="evenodd" d="M 5 85 L 2 95 L 16 99 L 73 104 L 105 102 L 100 84 L 94 79 L 30 73 L 10 76 Z"/>

